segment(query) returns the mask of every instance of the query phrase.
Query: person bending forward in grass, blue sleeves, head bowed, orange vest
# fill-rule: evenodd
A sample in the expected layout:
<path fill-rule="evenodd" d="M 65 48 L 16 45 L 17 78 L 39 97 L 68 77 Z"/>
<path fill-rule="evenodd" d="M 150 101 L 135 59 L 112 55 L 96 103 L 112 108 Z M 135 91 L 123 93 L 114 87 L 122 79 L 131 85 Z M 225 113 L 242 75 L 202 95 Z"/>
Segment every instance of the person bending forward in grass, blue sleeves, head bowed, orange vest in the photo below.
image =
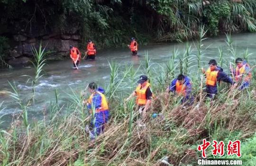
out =
<path fill-rule="evenodd" d="M 183 74 L 179 74 L 178 77 L 172 80 L 171 85 L 166 88 L 165 92 L 174 92 L 178 95 L 183 96 L 182 103 L 189 102 L 189 104 L 193 103 L 193 96 L 191 95 L 192 91 L 192 82 L 188 76 L 184 76 Z"/>

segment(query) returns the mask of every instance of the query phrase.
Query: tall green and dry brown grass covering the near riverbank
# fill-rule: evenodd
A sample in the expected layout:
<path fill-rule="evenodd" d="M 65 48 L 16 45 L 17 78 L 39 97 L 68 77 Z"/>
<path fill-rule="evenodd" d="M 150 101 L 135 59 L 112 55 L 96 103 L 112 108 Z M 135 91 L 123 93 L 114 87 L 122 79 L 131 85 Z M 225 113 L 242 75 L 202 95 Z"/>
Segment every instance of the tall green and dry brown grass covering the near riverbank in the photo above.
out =
<path fill-rule="evenodd" d="M 229 88 L 221 83 L 216 100 L 205 98 L 203 92 L 204 79 L 199 72 L 202 60 L 206 57 L 203 45 L 203 30 L 200 30 L 197 53 L 192 53 L 191 45 L 185 45 L 183 52 L 174 50 L 165 66 L 151 63 L 145 57 L 145 63 L 135 69 L 133 65 L 119 66 L 110 63 L 110 80 L 106 85 L 106 96 L 109 100 L 111 118 L 105 132 L 96 140 L 90 141 L 85 132 L 86 124 L 90 123 L 91 115 L 82 104 L 84 89 L 75 89 L 67 93 L 69 102 L 60 103 L 57 90 L 55 96 L 49 96 L 50 104 L 44 107 L 44 118 L 31 121 L 27 111 L 40 96 L 32 88 L 28 97 L 20 96 L 14 83 L 8 92 L 14 101 L 20 105 L 22 112 L 13 117 L 13 122 L 7 130 L 0 131 L 0 164 L 2 166 L 164 166 L 163 158 L 168 163 L 178 165 L 197 165 L 201 153 L 197 146 L 202 139 L 224 141 L 241 140 L 243 166 L 255 166 L 256 163 L 256 61 L 251 61 L 253 78 L 251 86 L 244 90 Z M 229 62 L 240 56 L 234 49 L 230 36 L 227 35 L 225 49 L 228 53 L 219 51 L 219 65 L 228 70 Z M 224 49 L 224 48 L 223 48 Z M 248 50 L 244 50 L 243 59 L 251 60 Z M 44 50 L 35 51 L 34 69 L 37 75 L 30 79 L 31 86 L 37 86 L 44 66 Z M 41 58 L 40 58 L 41 57 Z M 190 65 L 192 62 L 196 65 Z M 183 62 L 183 63 L 182 63 Z M 153 68 L 154 65 L 154 68 Z M 181 105 L 181 97 L 171 95 L 165 99 L 165 88 L 180 72 L 192 78 L 192 94 L 196 98 L 193 105 Z M 124 102 L 137 85 L 140 72 L 149 76 L 155 98 L 147 112 L 145 126 L 137 125 L 139 114 L 134 100 Z M 160 73 L 160 74 L 159 74 Z M 101 83 L 102 86 L 102 83 Z M 81 92 L 81 93 L 77 93 Z M 32 98 L 32 99 L 30 99 Z M 1 108 L 0 110 L 5 108 Z M 38 111 L 33 110 L 33 111 Z M 153 113 L 159 116 L 152 118 Z M 161 115 L 160 115 L 161 114 Z M 207 149 L 207 156 L 214 157 Z M 226 158 L 227 152 L 222 158 Z M 219 156 L 217 156 L 219 158 Z M 231 156 L 229 158 L 237 158 Z"/>

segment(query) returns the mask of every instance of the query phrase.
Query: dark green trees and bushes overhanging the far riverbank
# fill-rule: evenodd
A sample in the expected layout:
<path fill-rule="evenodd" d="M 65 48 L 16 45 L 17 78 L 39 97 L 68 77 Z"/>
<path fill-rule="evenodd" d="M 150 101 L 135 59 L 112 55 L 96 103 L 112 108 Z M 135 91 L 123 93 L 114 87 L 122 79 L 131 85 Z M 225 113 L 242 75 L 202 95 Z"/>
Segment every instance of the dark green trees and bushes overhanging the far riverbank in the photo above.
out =
<path fill-rule="evenodd" d="M 101 47 L 126 44 L 130 36 L 140 43 L 148 36 L 184 40 L 202 24 L 209 35 L 256 31 L 256 0 L 0 0 L 0 7 L 2 35 L 78 30 Z"/>

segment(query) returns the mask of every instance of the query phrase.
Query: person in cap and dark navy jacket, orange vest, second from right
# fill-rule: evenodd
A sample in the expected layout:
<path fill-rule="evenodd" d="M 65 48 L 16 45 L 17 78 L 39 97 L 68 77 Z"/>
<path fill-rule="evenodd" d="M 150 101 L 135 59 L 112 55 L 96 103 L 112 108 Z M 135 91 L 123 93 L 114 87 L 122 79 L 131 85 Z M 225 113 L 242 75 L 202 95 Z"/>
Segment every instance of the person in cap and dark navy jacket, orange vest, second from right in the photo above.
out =
<path fill-rule="evenodd" d="M 208 70 L 204 70 L 202 68 L 202 73 L 206 77 L 206 93 L 207 97 L 214 98 L 215 95 L 218 93 L 217 82 L 224 81 L 229 84 L 235 84 L 235 82 L 223 72 L 223 69 L 217 66 L 217 61 L 210 60 L 209 61 L 209 68 Z"/>

